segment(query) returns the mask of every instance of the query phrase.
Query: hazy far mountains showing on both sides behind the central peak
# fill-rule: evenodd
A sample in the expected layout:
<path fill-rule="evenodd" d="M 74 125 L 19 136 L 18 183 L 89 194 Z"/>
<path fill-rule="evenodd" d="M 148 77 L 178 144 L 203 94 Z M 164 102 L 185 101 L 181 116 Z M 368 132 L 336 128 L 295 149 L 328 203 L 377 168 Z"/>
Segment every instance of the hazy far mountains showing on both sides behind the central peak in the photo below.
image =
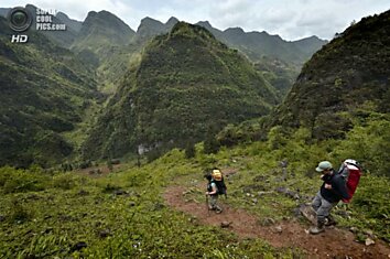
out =
<path fill-rule="evenodd" d="M 36 7 L 28 4 L 26 8 L 35 13 Z M 3 15 L 8 11 L 9 9 L 1 9 Z M 42 33 L 59 46 L 72 48 L 82 61 L 95 67 L 98 82 L 101 82 L 99 88 L 113 93 L 119 85 L 119 78 L 129 66 L 128 60 L 139 53 L 149 40 L 172 30 L 178 20 L 171 18 L 162 23 L 144 18 L 137 32 L 107 11 L 91 11 L 84 22 L 72 20 L 65 13 L 58 12 L 54 22 L 65 23 L 68 30 Z M 292 86 L 302 64 L 326 43 L 316 36 L 288 42 L 267 32 L 247 33 L 240 28 L 220 31 L 207 21 L 197 24 L 206 28 L 228 46 L 240 51 L 252 62 L 261 63 L 257 67 L 275 85 L 281 96 Z"/>

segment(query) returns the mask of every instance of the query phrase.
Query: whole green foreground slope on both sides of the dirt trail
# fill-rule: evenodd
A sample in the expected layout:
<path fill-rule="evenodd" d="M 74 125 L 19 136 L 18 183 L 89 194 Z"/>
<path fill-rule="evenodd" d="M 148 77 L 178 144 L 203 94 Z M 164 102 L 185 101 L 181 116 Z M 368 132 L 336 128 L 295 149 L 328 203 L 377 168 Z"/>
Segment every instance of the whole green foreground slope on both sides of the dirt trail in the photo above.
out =
<path fill-rule="evenodd" d="M 271 132 L 267 142 L 223 149 L 212 155 L 203 154 L 202 145 L 198 145 L 197 155 L 192 160 L 186 160 L 184 152 L 173 150 L 140 169 L 133 166 L 101 179 L 74 173 L 54 176 L 36 171 L 34 174 L 15 173 L 11 169 L 1 169 L 3 195 L 0 201 L 4 204 L 1 212 L 4 217 L 0 222 L 0 256 L 300 257 L 299 251 L 278 251 L 261 240 L 240 240 L 220 229 L 198 226 L 196 218 L 163 205 L 161 193 L 171 184 L 191 185 L 203 181 L 206 168 L 232 168 L 238 173 L 227 181 L 231 206 L 253 213 L 260 223 L 267 218 L 291 219 L 293 209 L 310 201 L 321 185 L 314 172 L 317 162 L 328 159 L 337 164 L 340 157 L 353 155 L 355 150 L 344 148 L 359 142 L 361 132 L 354 130 L 345 141 L 319 144 L 306 143 L 308 130 L 305 129 L 296 131 L 290 140 Z M 356 130 L 359 131 L 359 127 Z M 367 128 L 367 132 L 371 130 Z M 289 161 L 286 181 L 281 181 L 279 166 L 283 159 Z M 390 238 L 390 182 L 387 177 L 375 176 L 375 173 L 365 170 L 353 203 L 340 204 L 334 209 L 342 227 L 358 229 L 359 240 L 366 238 L 364 231 L 367 229 L 387 240 Z M 275 191 L 278 187 L 297 192 L 301 198 L 286 197 Z M 128 194 L 115 195 L 115 190 Z M 187 198 L 203 201 L 203 193 L 191 192 Z M 253 202 L 254 198 L 258 201 Z M 86 242 L 87 248 L 73 251 L 75 244 L 80 241 Z"/>

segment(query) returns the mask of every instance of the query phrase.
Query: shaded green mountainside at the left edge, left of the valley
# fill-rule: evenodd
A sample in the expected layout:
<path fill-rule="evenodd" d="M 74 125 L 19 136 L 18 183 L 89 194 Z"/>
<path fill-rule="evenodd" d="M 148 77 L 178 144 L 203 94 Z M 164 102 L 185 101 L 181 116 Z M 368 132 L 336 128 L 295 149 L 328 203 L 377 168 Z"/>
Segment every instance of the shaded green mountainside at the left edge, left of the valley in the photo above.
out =
<path fill-rule="evenodd" d="M 77 127 L 98 97 L 94 73 L 39 33 L 29 33 L 29 44 L 12 44 L 2 32 L 0 165 L 59 163 L 75 148 L 64 132 Z"/>

